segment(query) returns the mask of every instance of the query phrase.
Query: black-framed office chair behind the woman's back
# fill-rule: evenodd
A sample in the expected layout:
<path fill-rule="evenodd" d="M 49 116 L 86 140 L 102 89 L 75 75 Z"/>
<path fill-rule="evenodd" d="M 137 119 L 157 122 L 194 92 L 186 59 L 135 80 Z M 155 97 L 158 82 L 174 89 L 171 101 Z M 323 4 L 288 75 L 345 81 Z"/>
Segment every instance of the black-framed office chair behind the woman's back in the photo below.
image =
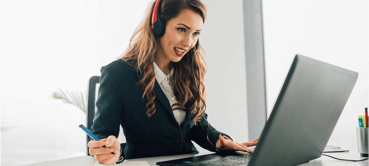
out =
<path fill-rule="evenodd" d="M 100 76 L 92 76 L 89 80 L 88 86 L 87 86 L 87 107 L 86 107 L 86 127 L 90 130 L 93 123 L 93 117 L 95 117 L 96 112 L 96 100 L 97 100 L 97 91 L 98 87 L 100 86 Z M 125 141 L 125 137 L 122 131 L 122 126 L 120 126 L 120 132 L 119 132 L 119 142 Z M 87 155 L 89 156 L 89 137 L 86 134 L 86 147 L 87 147 Z M 123 138 L 122 138 L 123 137 Z M 125 143 L 123 143 L 123 146 Z"/>

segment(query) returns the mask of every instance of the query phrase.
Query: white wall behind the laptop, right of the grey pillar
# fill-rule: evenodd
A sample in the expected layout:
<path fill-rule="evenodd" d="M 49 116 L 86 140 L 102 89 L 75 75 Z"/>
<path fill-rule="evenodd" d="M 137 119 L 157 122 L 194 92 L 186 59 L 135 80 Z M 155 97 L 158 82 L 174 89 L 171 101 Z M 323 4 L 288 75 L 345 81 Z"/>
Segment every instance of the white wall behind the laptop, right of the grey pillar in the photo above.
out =
<path fill-rule="evenodd" d="M 357 152 L 368 107 L 368 0 L 263 0 L 268 115 L 296 53 L 359 73 L 328 142 Z"/>

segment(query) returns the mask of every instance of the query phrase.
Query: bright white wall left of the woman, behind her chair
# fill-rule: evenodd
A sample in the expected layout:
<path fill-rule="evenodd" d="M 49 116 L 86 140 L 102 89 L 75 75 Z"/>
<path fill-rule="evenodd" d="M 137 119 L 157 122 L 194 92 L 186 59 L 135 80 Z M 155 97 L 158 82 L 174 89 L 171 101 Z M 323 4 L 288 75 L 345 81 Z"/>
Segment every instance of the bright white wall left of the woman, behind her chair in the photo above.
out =
<path fill-rule="evenodd" d="M 1 166 L 86 154 L 85 113 L 51 95 L 86 91 L 128 46 L 147 3 L 0 1 Z"/>

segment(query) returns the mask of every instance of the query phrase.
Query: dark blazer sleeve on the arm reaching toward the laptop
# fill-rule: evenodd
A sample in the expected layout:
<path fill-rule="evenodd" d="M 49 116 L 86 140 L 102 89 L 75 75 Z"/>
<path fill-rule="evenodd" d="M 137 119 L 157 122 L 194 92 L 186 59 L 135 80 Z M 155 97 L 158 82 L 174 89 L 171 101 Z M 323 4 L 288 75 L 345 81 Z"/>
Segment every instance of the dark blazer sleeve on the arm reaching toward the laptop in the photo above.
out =
<path fill-rule="evenodd" d="M 208 115 L 204 114 L 205 119 L 208 119 Z M 215 145 L 216 142 L 219 140 L 219 135 L 223 134 L 231 139 L 228 135 L 219 132 L 215 130 L 215 128 L 209 124 L 209 141 L 213 143 L 213 145 L 208 141 L 208 122 L 202 119 L 201 125 L 197 124 L 194 125 L 189 130 L 189 138 L 190 140 L 196 142 L 198 145 L 200 145 L 202 148 L 207 149 L 212 152 L 216 152 Z M 232 140 L 232 139 L 231 139 Z"/>

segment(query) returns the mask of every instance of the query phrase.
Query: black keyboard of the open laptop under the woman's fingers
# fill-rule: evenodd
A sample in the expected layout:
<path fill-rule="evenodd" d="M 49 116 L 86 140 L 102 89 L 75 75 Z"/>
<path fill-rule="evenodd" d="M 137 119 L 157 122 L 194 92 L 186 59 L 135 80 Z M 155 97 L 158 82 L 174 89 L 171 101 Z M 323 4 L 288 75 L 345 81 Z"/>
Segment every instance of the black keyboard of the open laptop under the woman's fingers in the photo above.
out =
<path fill-rule="evenodd" d="M 222 159 L 208 160 L 201 162 L 202 165 L 215 165 L 215 166 L 239 166 L 250 162 L 251 155 L 245 156 L 227 156 Z"/>

